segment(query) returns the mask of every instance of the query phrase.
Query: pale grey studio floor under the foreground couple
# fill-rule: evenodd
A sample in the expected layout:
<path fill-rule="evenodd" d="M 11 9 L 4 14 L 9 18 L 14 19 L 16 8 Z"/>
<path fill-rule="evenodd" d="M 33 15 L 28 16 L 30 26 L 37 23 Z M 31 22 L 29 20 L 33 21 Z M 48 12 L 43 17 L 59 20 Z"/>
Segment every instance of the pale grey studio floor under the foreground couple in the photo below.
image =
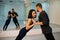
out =
<path fill-rule="evenodd" d="M 60 40 L 60 32 L 53 33 L 56 40 Z M 15 40 L 16 37 L 2 37 L 0 40 Z M 25 36 L 23 40 L 46 40 L 43 34 Z"/>

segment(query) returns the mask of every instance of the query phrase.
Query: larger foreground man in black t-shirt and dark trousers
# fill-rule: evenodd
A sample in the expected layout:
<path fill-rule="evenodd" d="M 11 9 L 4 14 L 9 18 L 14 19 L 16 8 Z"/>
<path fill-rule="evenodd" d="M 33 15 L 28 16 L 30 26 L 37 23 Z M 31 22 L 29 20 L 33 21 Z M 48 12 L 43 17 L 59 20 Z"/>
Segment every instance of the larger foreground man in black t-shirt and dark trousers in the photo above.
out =
<path fill-rule="evenodd" d="M 49 18 L 45 11 L 42 9 L 42 5 L 38 3 L 36 5 L 37 12 L 39 12 L 39 21 L 36 24 L 39 24 L 42 29 L 42 33 L 47 40 L 55 40 L 52 34 L 52 28 L 49 26 Z"/>

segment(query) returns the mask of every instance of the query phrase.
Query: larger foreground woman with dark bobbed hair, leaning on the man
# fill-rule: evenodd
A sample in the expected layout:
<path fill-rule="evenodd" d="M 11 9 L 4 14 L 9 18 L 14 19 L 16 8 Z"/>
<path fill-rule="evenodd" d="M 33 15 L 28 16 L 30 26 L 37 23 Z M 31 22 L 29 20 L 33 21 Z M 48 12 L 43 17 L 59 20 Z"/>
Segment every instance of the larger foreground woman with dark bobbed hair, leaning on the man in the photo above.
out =
<path fill-rule="evenodd" d="M 34 9 L 31 9 L 28 14 L 28 21 L 26 22 L 26 27 L 22 28 L 19 32 L 19 35 L 15 40 L 22 40 L 27 32 L 33 28 L 35 25 L 34 18 L 36 17 L 36 11 Z"/>

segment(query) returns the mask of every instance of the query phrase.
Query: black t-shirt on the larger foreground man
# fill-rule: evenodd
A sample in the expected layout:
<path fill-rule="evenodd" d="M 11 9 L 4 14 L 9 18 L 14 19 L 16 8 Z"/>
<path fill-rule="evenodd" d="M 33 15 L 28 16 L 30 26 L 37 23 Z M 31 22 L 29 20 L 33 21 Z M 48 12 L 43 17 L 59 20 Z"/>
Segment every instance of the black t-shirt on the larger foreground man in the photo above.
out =
<path fill-rule="evenodd" d="M 39 15 L 39 21 L 43 22 L 42 26 L 49 26 L 49 18 L 45 11 L 42 11 Z"/>

